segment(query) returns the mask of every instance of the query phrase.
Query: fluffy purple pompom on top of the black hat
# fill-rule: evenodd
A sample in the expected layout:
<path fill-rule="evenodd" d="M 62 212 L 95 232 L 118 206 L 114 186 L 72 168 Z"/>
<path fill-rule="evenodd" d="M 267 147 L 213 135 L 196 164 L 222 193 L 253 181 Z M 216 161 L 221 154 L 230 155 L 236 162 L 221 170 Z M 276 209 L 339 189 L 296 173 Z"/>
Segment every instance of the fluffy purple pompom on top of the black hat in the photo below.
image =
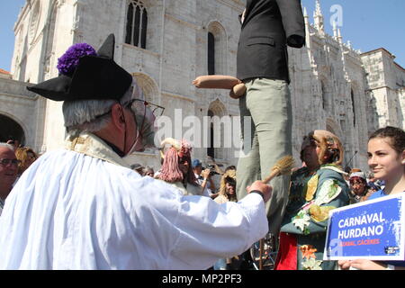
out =
<path fill-rule="evenodd" d="M 94 48 L 87 43 L 77 43 L 67 49 L 62 57 L 58 58 L 58 70 L 60 74 L 72 76 L 79 63 L 79 59 L 85 56 L 96 56 Z"/>

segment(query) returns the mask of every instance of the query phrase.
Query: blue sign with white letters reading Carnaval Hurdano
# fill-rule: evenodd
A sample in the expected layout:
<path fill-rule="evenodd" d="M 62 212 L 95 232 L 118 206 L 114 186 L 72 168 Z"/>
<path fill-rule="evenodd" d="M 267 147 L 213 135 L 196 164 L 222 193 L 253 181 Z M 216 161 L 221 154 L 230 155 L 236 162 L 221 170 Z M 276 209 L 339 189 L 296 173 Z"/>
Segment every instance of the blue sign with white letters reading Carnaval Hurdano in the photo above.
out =
<path fill-rule="evenodd" d="M 329 211 L 324 260 L 405 260 L 405 194 Z"/>

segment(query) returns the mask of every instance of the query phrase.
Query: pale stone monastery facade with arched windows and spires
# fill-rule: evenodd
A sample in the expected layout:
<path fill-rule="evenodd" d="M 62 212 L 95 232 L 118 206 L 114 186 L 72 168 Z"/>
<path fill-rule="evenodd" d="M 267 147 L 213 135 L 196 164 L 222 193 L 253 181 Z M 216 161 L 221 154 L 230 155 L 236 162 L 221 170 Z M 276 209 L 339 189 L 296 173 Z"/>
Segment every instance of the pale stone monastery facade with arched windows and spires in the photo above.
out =
<path fill-rule="evenodd" d="M 14 135 L 40 153 L 63 145 L 61 103 L 25 86 L 58 76 L 58 57 L 74 43 L 97 49 L 114 33 L 115 61 L 138 80 L 148 101 L 166 107 L 170 121 L 161 121 L 162 135 L 192 134 L 193 157 L 236 165 L 238 101 L 228 91 L 196 89 L 192 81 L 209 66 L 235 76 L 244 6 L 241 0 L 27 0 L 14 25 L 11 71 L 0 70 L 0 141 Z M 293 156 L 301 163 L 308 132 L 330 130 L 344 143 L 345 165 L 366 171 L 369 133 L 388 124 L 405 127 L 405 70 L 386 49 L 361 53 L 343 42 L 337 27 L 327 34 L 319 0 L 313 23 L 304 14 L 306 47 L 289 49 Z M 158 152 L 128 161 L 158 167 Z"/>

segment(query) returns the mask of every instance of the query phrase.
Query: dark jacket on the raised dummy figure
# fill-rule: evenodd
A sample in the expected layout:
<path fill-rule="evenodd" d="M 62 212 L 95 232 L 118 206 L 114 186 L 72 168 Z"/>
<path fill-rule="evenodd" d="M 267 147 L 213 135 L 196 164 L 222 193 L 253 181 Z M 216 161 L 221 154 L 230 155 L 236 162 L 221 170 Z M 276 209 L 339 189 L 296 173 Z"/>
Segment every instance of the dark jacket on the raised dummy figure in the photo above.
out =
<path fill-rule="evenodd" d="M 290 83 L 287 44 L 302 48 L 304 43 L 301 0 L 247 0 L 238 43 L 238 78 Z"/>

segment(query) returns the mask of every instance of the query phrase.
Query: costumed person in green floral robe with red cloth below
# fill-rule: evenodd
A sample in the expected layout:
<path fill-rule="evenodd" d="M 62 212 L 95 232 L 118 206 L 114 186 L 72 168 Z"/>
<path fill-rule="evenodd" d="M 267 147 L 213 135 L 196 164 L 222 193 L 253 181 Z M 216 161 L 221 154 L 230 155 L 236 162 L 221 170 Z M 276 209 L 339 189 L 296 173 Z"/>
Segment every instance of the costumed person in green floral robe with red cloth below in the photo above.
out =
<path fill-rule="evenodd" d="M 320 165 L 316 171 L 311 172 L 305 166 L 293 173 L 275 270 L 331 270 L 336 267 L 336 262 L 322 259 L 329 211 L 349 202 L 349 187 L 342 176 L 345 172 L 337 165 L 343 153 L 338 139 L 329 138 L 328 133 L 315 133 L 313 137 L 323 143 L 320 158 L 325 153 L 333 153 L 331 157 L 337 160 L 333 164 Z"/>

